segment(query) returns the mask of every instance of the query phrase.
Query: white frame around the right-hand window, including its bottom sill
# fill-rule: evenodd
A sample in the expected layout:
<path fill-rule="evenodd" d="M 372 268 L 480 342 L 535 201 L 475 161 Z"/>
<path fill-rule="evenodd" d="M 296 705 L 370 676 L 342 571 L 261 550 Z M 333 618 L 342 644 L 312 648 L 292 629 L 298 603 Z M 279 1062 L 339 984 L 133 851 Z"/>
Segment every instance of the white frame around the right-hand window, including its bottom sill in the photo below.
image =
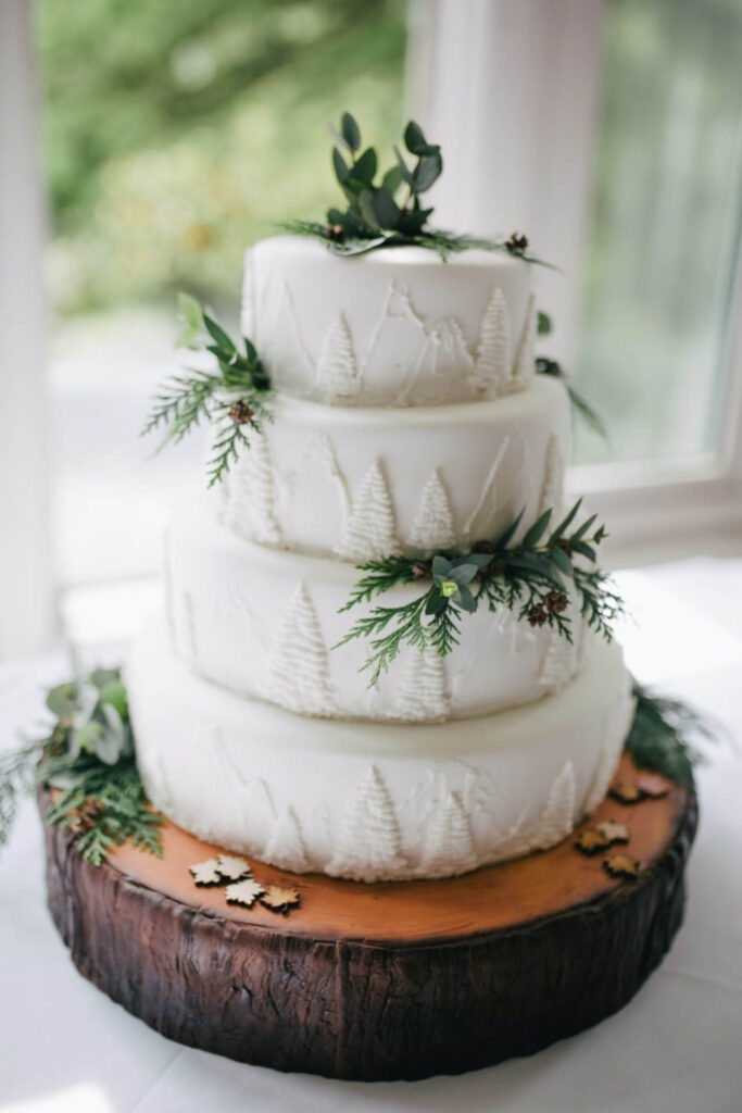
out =
<path fill-rule="evenodd" d="M 444 227 L 527 229 L 560 262 L 558 278 L 538 275 L 538 297 L 557 323 L 550 352 L 566 366 L 580 317 L 605 13 L 605 0 L 410 4 L 408 107 L 447 156 L 431 198 L 436 217 Z M 567 490 L 607 522 L 614 567 L 742 551 L 739 259 L 729 322 L 718 451 L 568 470 Z"/>

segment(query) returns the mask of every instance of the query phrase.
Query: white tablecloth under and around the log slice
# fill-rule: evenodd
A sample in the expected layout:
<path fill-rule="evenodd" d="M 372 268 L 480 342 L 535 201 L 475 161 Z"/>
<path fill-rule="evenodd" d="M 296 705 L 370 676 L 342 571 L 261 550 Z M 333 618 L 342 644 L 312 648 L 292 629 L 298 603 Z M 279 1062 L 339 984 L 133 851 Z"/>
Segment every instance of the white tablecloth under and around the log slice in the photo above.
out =
<path fill-rule="evenodd" d="M 180 1047 L 73 969 L 44 907 L 30 804 L 0 856 L 0 1109 L 22 1113 L 742 1111 L 742 562 L 620 577 L 636 676 L 713 712 L 728 736 L 699 770 L 701 827 L 685 925 L 617 1016 L 531 1058 L 458 1077 L 345 1083 Z M 60 662 L 0 670 L 0 747 L 38 715 Z"/>

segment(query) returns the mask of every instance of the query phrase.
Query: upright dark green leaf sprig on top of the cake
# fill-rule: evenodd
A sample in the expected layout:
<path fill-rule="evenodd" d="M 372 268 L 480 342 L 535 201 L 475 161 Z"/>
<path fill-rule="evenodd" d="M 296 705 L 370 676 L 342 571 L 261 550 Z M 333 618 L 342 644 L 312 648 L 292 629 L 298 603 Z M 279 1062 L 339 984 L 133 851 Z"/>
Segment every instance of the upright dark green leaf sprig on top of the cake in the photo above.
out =
<path fill-rule="evenodd" d="M 363 148 L 360 128 L 350 112 L 343 112 L 338 129 L 328 125 L 335 140 L 333 169 L 345 197 L 345 208 L 330 207 L 326 220 L 289 220 L 280 227 L 298 236 L 314 236 L 337 255 L 365 255 L 380 247 L 427 247 L 446 259 L 457 252 L 481 248 L 507 252 L 528 263 L 550 264 L 528 254 L 522 233 L 502 238 L 459 235 L 429 225 L 433 208 L 423 198 L 443 171 L 437 144 L 409 120 L 404 132 L 406 155 L 394 148 L 395 161 L 379 171 L 373 147 Z M 377 179 L 377 174 L 380 177 Z"/>

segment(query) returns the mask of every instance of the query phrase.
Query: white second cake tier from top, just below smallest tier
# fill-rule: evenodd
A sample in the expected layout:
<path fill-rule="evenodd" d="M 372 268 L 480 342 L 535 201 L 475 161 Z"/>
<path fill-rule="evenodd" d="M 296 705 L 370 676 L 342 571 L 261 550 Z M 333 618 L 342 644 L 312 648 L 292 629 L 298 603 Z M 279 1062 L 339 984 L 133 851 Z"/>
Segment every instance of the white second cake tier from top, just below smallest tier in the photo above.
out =
<path fill-rule="evenodd" d="M 495 402 L 385 411 L 277 397 L 274 410 L 225 482 L 222 521 L 261 543 L 353 561 L 465 548 L 561 501 L 570 410 L 545 376 Z"/>

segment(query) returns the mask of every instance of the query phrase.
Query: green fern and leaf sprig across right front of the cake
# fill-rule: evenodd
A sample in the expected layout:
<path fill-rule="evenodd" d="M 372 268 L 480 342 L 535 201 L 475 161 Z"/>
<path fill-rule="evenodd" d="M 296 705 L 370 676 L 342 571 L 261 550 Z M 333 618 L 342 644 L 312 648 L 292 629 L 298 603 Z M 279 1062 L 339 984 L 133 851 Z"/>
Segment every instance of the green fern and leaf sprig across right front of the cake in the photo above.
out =
<path fill-rule="evenodd" d="M 552 510 L 515 541 L 523 513 L 494 541 L 482 541 L 469 553 L 437 553 L 431 559 L 393 555 L 359 565 L 364 573 L 340 611 L 370 603 L 399 584 L 421 583 L 421 594 L 398 607 L 372 607 L 338 642 L 369 642 L 363 670 L 370 686 L 388 670 L 403 646 L 421 652 L 432 647 L 446 657 L 458 644 L 461 622 L 479 604 L 492 612 L 504 608 L 532 627 L 547 626 L 572 641 L 568 591 L 580 603 L 586 624 L 611 639 L 612 623 L 623 603 L 596 564 L 605 539 L 593 514 L 575 526 L 582 500 L 550 530 Z"/>

